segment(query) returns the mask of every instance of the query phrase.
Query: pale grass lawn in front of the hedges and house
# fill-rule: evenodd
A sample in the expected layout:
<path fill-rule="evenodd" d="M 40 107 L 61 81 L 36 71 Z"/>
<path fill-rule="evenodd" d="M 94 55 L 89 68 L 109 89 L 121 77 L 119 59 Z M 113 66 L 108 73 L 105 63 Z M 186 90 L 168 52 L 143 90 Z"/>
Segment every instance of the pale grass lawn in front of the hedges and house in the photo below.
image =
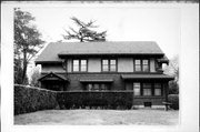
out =
<path fill-rule="evenodd" d="M 176 125 L 179 111 L 163 110 L 47 110 L 14 116 L 14 124 Z"/>

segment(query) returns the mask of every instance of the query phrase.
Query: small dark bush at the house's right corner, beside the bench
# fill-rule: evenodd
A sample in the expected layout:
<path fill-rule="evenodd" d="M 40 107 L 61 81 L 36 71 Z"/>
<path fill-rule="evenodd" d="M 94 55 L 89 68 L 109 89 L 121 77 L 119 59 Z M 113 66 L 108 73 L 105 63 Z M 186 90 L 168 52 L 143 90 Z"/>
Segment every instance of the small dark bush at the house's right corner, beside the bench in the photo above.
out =
<path fill-rule="evenodd" d="M 171 109 L 179 110 L 179 94 L 169 94 L 168 95 L 168 101 L 170 103 L 172 103 L 170 105 Z"/>

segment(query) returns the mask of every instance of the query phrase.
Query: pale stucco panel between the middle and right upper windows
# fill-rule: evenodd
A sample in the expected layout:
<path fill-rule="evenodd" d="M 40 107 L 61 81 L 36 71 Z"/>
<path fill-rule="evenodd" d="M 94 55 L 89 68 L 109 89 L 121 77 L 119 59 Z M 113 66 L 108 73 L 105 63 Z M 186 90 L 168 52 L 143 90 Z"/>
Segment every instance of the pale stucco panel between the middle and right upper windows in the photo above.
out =
<path fill-rule="evenodd" d="M 133 72 L 133 59 L 132 58 L 119 58 L 118 59 L 118 72 Z"/>

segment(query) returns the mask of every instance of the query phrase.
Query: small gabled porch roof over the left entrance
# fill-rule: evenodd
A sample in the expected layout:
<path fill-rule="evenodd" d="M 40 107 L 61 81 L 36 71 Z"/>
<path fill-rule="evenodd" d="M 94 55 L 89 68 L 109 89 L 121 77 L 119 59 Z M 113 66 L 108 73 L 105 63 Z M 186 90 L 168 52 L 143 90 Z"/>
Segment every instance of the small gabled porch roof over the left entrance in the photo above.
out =
<path fill-rule="evenodd" d="M 41 78 L 38 79 L 38 81 L 44 81 L 44 80 L 61 80 L 61 81 L 68 81 L 68 79 L 64 75 L 56 74 L 53 72 L 50 72 Z"/>

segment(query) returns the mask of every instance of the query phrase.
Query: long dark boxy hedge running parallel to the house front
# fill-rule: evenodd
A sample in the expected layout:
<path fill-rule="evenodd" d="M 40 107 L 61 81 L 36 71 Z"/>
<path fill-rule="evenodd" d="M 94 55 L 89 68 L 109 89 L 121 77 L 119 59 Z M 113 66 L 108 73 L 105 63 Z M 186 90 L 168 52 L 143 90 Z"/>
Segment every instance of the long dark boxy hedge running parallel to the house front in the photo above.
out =
<path fill-rule="evenodd" d="M 131 109 L 132 92 L 58 92 L 60 109 Z"/>

